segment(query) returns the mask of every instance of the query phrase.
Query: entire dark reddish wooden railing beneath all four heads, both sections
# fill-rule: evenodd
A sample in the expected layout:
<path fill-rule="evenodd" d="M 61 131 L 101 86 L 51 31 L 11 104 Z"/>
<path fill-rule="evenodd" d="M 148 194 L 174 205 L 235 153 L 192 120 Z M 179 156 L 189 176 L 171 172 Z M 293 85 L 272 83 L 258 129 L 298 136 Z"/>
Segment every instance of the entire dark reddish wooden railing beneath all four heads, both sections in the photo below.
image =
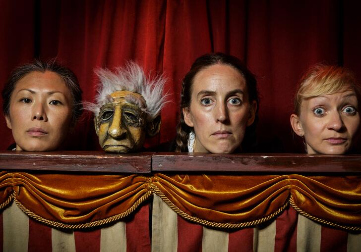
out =
<path fill-rule="evenodd" d="M 152 172 L 361 174 L 361 155 L 1 151 L 0 169 L 142 174 Z"/>

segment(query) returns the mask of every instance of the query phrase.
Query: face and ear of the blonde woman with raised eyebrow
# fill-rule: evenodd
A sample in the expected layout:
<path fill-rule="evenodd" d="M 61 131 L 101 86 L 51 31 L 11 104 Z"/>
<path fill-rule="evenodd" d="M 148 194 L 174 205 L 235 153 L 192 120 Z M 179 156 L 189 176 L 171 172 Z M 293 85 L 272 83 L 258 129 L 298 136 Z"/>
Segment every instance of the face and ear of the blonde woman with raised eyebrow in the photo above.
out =
<path fill-rule="evenodd" d="M 335 94 L 305 99 L 300 116 L 291 115 L 291 125 L 304 136 L 307 153 L 345 154 L 360 127 L 357 95 L 346 87 Z"/>

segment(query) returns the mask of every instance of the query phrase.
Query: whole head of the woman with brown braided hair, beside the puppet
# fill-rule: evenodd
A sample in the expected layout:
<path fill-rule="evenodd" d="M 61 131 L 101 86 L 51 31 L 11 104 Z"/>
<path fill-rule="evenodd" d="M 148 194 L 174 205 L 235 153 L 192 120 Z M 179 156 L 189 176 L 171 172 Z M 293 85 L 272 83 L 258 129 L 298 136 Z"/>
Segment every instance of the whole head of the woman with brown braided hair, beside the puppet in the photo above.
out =
<path fill-rule="evenodd" d="M 197 58 L 182 82 L 176 151 L 233 153 L 253 145 L 256 83 L 235 56 L 212 53 Z"/>

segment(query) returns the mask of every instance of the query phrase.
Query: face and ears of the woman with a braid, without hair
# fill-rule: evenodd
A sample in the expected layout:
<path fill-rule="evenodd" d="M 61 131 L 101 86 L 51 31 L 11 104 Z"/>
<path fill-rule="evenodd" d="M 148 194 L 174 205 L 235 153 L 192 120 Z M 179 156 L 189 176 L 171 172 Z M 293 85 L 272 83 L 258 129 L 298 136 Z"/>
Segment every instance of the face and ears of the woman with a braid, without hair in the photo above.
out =
<path fill-rule="evenodd" d="M 256 101 L 235 68 L 215 64 L 196 74 L 184 121 L 195 133 L 194 152 L 232 153 L 254 121 Z"/>

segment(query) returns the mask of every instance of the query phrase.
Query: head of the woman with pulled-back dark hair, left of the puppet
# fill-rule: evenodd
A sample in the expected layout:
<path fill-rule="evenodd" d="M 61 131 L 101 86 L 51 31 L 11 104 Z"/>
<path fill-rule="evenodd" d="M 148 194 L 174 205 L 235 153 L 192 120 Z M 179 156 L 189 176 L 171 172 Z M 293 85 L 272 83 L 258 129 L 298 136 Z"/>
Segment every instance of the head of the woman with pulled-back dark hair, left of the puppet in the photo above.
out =
<path fill-rule="evenodd" d="M 55 60 L 15 68 L 2 91 L 2 109 L 16 151 L 54 151 L 82 113 L 75 74 Z"/>

